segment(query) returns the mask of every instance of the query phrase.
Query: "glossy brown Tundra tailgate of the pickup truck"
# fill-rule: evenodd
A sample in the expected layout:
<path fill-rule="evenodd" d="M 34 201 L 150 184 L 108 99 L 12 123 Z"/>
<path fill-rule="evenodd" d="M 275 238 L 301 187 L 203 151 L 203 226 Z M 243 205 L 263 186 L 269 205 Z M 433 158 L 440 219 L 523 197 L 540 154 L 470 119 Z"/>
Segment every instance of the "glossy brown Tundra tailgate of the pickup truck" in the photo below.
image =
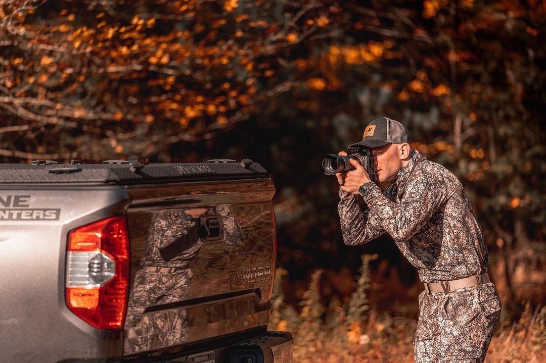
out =
<path fill-rule="evenodd" d="M 274 192 L 268 178 L 129 185 L 124 355 L 268 324 Z"/>

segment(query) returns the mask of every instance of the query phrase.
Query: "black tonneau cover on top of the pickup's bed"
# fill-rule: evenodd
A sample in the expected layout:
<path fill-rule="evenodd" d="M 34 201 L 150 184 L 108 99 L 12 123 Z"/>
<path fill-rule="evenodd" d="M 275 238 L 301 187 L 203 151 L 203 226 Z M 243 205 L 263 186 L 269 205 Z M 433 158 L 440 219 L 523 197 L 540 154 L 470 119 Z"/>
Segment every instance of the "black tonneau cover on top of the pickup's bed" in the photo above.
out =
<path fill-rule="evenodd" d="M 133 184 L 153 181 L 246 179 L 265 177 L 257 162 L 221 161 L 186 164 L 0 164 L 0 183 L 57 184 L 106 183 Z"/>

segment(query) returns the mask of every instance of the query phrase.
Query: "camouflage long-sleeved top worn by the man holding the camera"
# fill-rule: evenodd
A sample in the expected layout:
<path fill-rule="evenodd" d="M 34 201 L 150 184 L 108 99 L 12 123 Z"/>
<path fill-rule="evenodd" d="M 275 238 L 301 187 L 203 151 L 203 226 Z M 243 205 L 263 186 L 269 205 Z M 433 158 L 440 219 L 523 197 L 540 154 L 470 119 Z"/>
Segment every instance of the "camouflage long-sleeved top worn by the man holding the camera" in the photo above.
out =
<path fill-rule="evenodd" d="M 357 196 L 340 189 L 343 241 L 361 245 L 387 232 L 422 282 L 456 280 L 486 272 L 482 231 L 453 173 L 414 151 L 383 192 L 373 185 L 363 213 Z"/>

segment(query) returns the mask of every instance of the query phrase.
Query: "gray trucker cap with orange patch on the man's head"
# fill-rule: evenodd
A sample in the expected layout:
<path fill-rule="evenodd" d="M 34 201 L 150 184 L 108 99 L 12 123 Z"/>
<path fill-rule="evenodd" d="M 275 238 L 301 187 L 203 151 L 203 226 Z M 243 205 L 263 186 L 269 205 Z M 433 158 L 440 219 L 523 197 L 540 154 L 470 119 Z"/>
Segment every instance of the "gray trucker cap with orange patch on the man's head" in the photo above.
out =
<path fill-rule="evenodd" d="M 364 130 L 362 141 L 349 145 L 363 145 L 375 148 L 386 144 L 401 144 L 411 142 L 411 132 L 401 123 L 388 117 L 381 117 L 370 122 Z"/>

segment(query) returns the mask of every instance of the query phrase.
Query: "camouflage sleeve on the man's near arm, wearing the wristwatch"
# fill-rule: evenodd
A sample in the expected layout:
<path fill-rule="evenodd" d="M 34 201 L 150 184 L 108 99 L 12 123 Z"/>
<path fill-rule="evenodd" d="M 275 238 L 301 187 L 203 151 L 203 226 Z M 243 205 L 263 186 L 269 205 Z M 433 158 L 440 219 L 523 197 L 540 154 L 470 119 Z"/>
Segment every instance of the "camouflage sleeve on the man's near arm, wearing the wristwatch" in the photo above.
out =
<path fill-rule="evenodd" d="M 397 242 L 407 241 L 446 202 L 448 193 L 442 178 L 420 176 L 408 181 L 400 203 L 390 201 L 374 185 L 365 201 L 381 227 Z"/>

